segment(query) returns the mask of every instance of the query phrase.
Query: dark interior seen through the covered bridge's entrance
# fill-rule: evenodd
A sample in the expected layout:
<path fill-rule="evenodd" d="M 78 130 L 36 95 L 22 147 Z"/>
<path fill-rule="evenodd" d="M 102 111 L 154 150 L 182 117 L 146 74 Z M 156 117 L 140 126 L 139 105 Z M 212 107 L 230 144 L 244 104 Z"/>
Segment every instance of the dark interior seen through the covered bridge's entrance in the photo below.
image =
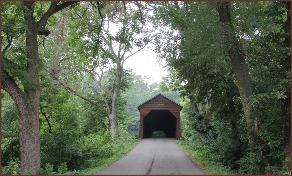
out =
<path fill-rule="evenodd" d="M 151 110 L 143 123 L 143 138 L 151 137 L 154 131 L 163 131 L 165 137 L 176 137 L 176 118 L 168 110 Z"/>

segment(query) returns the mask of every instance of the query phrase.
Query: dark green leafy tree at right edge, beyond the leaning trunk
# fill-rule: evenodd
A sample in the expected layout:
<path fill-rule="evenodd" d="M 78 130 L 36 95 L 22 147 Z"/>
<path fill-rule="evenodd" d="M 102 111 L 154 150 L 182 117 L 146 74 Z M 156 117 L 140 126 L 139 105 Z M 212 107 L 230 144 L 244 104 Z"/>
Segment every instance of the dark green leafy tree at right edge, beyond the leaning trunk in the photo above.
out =
<path fill-rule="evenodd" d="M 265 117 L 264 130 L 277 133 L 283 149 L 270 140 L 272 150 L 283 151 L 284 165 L 290 165 L 286 158 L 290 156 L 291 143 L 291 2 L 272 2 L 264 13 L 254 16 L 250 26 L 254 27 L 255 45 L 253 58 L 248 58 L 252 78 L 256 82 L 256 95 L 252 98 L 262 116 Z M 269 101 L 267 101 L 269 100 Z M 273 102 L 273 103 L 269 103 Z M 262 107 L 265 107 L 263 109 Z M 269 126 L 271 121 L 277 121 Z M 266 124 L 265 124 L 266 123 Z M 282 125 L 284 124 L 284 126 Z M 275 129 L 273 129 L 273 127 Z M 276 129 L 281 129 L 280 133 Z M 265 135 L 263 133 L 262 135 Z M 281 137 L 279 137 L 281 136 Z M 282 143 L 283 141 L 283 143 Z M 274 154 L 273 157 L 279 157 Z"/>

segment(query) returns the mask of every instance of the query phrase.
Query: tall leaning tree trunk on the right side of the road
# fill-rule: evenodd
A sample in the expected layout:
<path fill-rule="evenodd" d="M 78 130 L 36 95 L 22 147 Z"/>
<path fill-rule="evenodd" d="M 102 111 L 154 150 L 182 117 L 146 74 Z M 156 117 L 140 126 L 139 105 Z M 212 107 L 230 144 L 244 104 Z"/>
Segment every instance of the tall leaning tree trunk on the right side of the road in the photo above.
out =
<path fill-rule="evenodd" d="M 222 22 L 223 34 L 225 35 L 224 43 L 227 46 L 227 52 L 235 72 L 237 87 L 239 89 L 239 94 L 244 109 L 244 116 L 246 118 L 248 129 L 250 130 L 249 143 L 251 146 L 264 144 L 264 141 L 258 136 L 259 129 L 263 122 L 261 121 L 260 116 L 258 116 L 256 109 L 252 105 L 248 106 L 250 103 L 248 98 L 253 95 L 251 90 L 253 83 L 251 81 L 251 77 L 248 75 L 248 68 L 243 64 L 243 62 L 245 62 L 244 52 L 239 45 L 237 36 L 231 23 L 230 2 L 218 2 L 217 11 L 220 17 L 220 21 Z M 269 159 L 269 154 L 269 147 L 266 146 L 266 150 L 263 151 L 263 161 L 266 166 L 272 165 Z M 260 174 L 260 168 L 258 168 L 259 163 L 255 163 L 255 165 L 257 173 Z M 268 170 L 265 170 L 265 174 L 268 172 Z"/>

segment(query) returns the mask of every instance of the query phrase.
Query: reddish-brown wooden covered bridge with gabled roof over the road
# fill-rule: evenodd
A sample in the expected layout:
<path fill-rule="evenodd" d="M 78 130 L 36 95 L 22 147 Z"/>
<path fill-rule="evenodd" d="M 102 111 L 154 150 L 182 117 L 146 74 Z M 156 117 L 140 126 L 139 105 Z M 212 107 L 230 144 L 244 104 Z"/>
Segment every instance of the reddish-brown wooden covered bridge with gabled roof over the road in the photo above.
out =
<path fill-rule="evenodd" d="M 154 131 L 163 131 L 166 137 L 176 137 L 180 134 L 180 111 L 183 107 L 162 95 L 161 93 L 140 104 L 141 139 L 151 137 Z"/>

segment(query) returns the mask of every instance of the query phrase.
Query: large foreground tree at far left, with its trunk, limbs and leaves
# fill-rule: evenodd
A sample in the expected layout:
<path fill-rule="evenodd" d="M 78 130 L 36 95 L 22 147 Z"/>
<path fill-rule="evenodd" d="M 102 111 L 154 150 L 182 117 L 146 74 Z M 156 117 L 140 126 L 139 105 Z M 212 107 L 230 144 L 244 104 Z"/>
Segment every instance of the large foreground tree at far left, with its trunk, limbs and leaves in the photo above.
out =
<path fill-rule="evenodd" d="M 76 3 L 76 2 L 51 2 L 43 8 L 39 8 L 42 2 L 15 2 L 2 3 L 2 14 L 9 16 L 9 20 L 2 21 L 2 70 L 1 88 L 5 90 L 14 100 L 19 111 L 19 141 L 20 141 L 20 160 L 21 172 L 31 172 L 39 174 L 40 169 L 40 148 L 39 148 L 39 102 L 41 88 L 39 84 L 39 70 L 41 60 L 38 51 L 38 35 L 49 34 L 48 30 L 42 29 L 46 25 L 48 18 L 54 13 Z M 44 5 L 44 4 L 43 4 Z M 48 7 L 49 5 L 49 7 Z M 6 9 L 4 9 L 6 8 Z M 13 9 L 13 11 L 9 11 Z M 20 14 L 23 14 L 23 18 Z M 3 16 L 2 16 L 3 17 Z M 13 17 L 15 21 L 13 21 Z M 20 20 L 20 21 L 17 21 Z M 12 46 L 14 37 L 18 37 L 12 29 L 15 24 L 21 24 L 22 33 L 25 35 L 26 50 L 18 50 L 15 55 Z M 25 30 L 24 30 L 25 29 Z M 9 53 L 8 53 L 9 52 Z M 17 55 L 22 55 L 18 64 Z M 23 55 L 26 54 L 26 58 Z M 23 89 L 17 84 L 20 81 Z"/>

